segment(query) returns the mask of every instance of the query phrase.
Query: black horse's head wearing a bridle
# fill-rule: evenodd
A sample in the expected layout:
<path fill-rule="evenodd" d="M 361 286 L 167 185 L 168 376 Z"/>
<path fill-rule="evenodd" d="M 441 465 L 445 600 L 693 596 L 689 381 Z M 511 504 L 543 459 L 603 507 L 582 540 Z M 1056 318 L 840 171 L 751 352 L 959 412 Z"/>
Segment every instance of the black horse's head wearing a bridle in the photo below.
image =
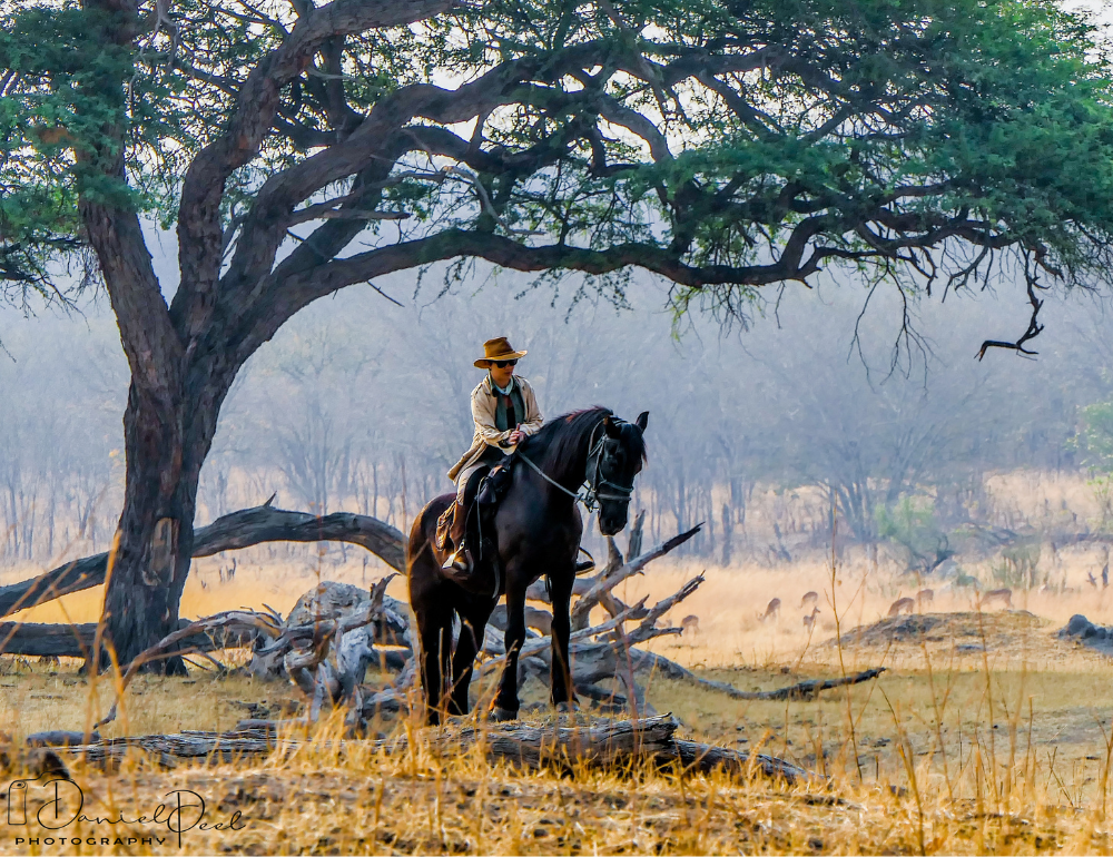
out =
<path fill-rule="evenodd" d="M 643 434 L 649 412 L 632 423 L 613 416 L 603 420 L 602 436 L 588 460 L 588 484 L 599 501 L 599 532 L 614 535 L 627 524 L 633 480 L 646 463 Z"/>

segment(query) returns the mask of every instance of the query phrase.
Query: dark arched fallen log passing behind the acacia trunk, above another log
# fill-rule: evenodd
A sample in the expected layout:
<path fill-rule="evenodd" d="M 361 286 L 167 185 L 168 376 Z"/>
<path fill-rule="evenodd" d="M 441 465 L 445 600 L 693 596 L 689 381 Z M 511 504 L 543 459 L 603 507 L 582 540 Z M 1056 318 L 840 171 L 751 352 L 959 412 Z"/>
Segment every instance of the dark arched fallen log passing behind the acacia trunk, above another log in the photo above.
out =
<path fill-rule="evenodd" d="M 396 571 L 405 570 L 405 536 L 390 524 L 349 512 L 318 518 L 307 512 L 289 512 L 266 503 L 218 518 L 194 531 L 194 556 L 250 548 L 263 542 L 326 542 L 358 544 Z M 105 582 L 108 554 L 98 553 L 59 565 L 46 574 L 0 587 L 0 615 L 52 601 L 70 592 L 99 587 Z"/>

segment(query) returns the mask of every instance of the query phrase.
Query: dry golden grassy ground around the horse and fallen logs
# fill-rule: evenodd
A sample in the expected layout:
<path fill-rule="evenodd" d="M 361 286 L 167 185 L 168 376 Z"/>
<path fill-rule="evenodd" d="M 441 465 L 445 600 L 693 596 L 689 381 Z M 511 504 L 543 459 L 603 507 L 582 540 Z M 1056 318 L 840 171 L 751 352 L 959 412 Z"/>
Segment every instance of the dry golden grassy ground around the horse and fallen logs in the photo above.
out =
<path fill-rule="evenodd" d="M 364 574 L 354 565 L 258 563 L 220 583 L 218 562 L 197 563 L 184 614 L 263 602 L 286 611 L 317 575 L 359 582 Z M 1113 595 L 1085 583 L 1100 568 L 1096 550 L 1060 551 L 1055 562 L 1055 580 L 1077 591 L 1017 592 L 1014 610 L 984 613 L 968 589 L 923 584 L 865 558 L 836 562 L 834 573 L 818 556 L 776 569 L 678 561 L 631 580 L 620 593 L 628 602 L 668 594 L 703 572 L 706 582 L 671 617 L 679 624 L 698 615 L 699 632 L 654 647 L 742 690 L 888 668 L 876 682 L 812 701 L 745 701 L 650 683 L 649 702 L 674 713 L 686 736 L 796 761 L 820 775 L 810 784 L 653 770 L 522 774 L 492 767 L 474 750 L 436 755 L 412 721 L 380 726 L 413 738 L 411 751 L 394 756 L 338 743 L 338 725 L 328 722 L 309 745 L 266 760 L 173 770 L 136 760 L 111 775 L 77 767 L 82 811 L 124 821 L 51 830 L 49 811 L 46 824 L 29 811 L 29 824 L 19 825 L 9 805 L 0 853 L 1106 853 L 1113 661 L 1055 631 L 1076 612 L 1113 622 Z M 965 571 L 988 581 L 991 564 Z M 12 570 L 4 582 L 26 572 Z M 935 599 L 922 618 L 884 619 L 892 601 L 924 585 Z M 810 632 L 799 607 L 808 591 L 818 593 L 820 611 Z M 403 582 L 391 592 L 403 595 Z M 779 618 L 759 621 L 772 598 L 781 600 Z M 98 609 L 90 591 L 20 618 L 90 621 Z M 0 728 L 16 741 L 43 729 L 83 729 L 114 699 L 112 677 L 81 677 L 77 663 L 0 664 Z M 544 693 L 531 683 L 523 696 L 540 701 Z M 186 679 L 141 677 L 102 732 L 224 730 L 248 712 L 277 716 L 296 699 L 287 686 L 201 669 Z M 206 819 L 225 827 L 188 829 L 179 847 L 171 828 L 188 826 L 188 811 L 168 824 L 165 816 L 162 824 L 136 821 L 176 790 L 201 796 Z M 0 799 L 10 801 L 10 792 Z M 39 802 L 29 794 L 32 810 Z M 78 835 L 81 844 L 72 841 Z"/>

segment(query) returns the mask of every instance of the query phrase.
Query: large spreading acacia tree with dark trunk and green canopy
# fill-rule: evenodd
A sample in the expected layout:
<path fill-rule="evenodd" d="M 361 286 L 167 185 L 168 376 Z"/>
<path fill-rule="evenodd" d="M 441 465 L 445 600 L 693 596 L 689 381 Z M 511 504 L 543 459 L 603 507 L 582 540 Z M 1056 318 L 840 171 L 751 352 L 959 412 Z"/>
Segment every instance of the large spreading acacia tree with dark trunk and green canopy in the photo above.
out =
<path fill-rule="evenodd" d="M 1022 0 L 6 0 L 0 270 L 107 289 L 131 370 L 107 630 L 176 621 L 237 372 L 344 286 L 482 258 L 745 314 L 844 266 L 914 296 L 1109 262 L 1093 31 Z M 174 224 L 173 298 L 144 217 Z M 460 270 L 460 266 L 450 266 Z M 1009 343 L 1004 343 L 1009 344 Z"/>

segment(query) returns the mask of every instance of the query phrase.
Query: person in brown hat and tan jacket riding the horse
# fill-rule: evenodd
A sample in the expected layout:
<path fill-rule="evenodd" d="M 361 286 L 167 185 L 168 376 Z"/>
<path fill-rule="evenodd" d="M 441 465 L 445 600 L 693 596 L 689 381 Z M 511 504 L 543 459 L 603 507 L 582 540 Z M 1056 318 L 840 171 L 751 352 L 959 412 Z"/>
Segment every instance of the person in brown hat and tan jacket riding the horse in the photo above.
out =
<path fill-rule="evenodd" d="M 452 505 L 452 524 L 449 539 L 455 549 L 444 561 L 445 570 L 460 574 L 472 572 L 470 551 L 464 549 L 467 510 L 464 491 L 467 480 L 480 467 L 490 467 L 503 461 L 525 437 L 541 427 L 541 411 L 530 383 L 514 374 L 524 351 L 514 351 L 505 336 L 483 343 L 484 356 L 475 367 L 487 370 L 483 381 L 472 391 L 472 420 L 475 434 L 467 450 L 449 471 L 449 479 L 456 483 L 456 502 Z"/>

